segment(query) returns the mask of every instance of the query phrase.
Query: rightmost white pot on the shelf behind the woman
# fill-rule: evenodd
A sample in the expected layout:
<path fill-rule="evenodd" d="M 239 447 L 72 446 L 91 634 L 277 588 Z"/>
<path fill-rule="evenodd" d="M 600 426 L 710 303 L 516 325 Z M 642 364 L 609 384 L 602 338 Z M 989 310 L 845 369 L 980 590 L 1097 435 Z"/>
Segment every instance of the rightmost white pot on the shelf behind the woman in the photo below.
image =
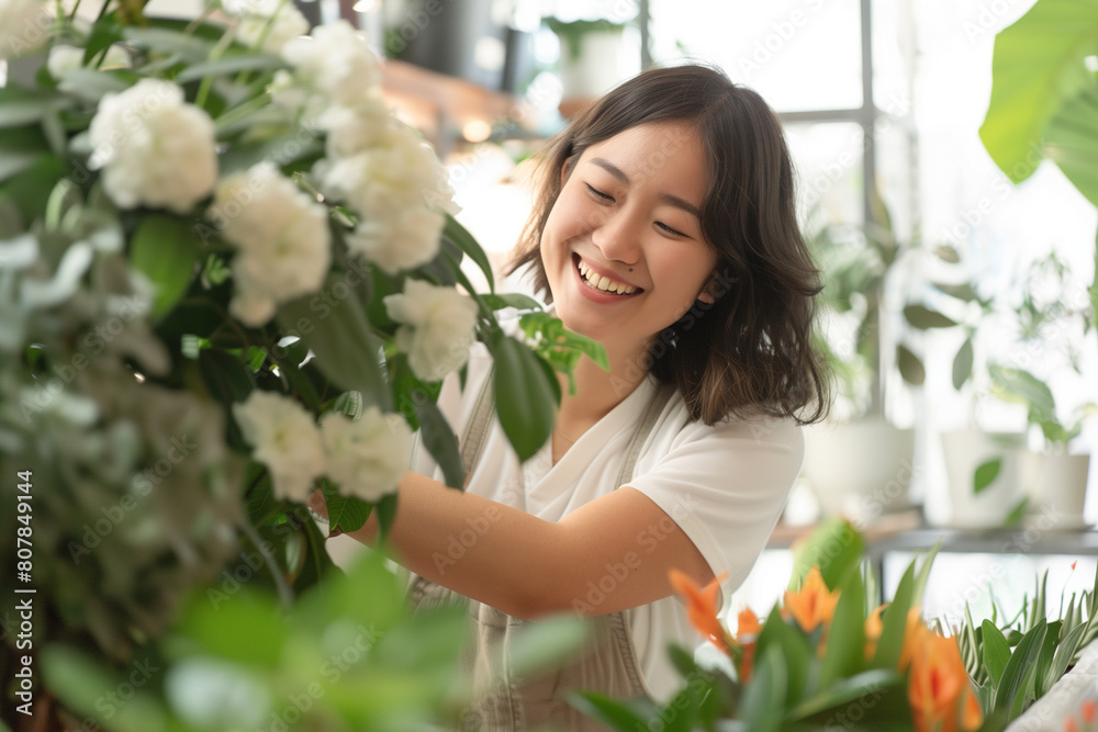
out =
<path fill-rule="evenodd" d="M 1087 497 L 1090 455 L 1049 455 L 1026 452 L 1022 475 L 1030 498 L 1030 514 L 1054 529 L 1087 526 L 1083 509 Z"/>

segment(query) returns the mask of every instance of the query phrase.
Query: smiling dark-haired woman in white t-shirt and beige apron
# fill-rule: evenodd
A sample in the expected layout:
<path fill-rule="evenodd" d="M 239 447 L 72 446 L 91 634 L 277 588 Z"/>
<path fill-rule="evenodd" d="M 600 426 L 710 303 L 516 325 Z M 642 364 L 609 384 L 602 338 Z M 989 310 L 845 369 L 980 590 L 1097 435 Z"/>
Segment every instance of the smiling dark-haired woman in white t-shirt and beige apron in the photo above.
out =
<path fill-rule="evenodd" d="M 417 441 L 389 534 L 418 608 L 469 606 L 469 717 L 485 730 L 590 729 L 576 690 L 665 700 L 665 649 L 693 638 L 669 571 L 719 577 L 714 601 L 743 581 L 800 469 L 798 423 L 828 403 L 810 345 L 818 272 L 781 127 L 754 92 L 703 67 L 646 71 L 573 121 L 541 173 L 515 267 L 533 267 L 609 369 L 580 362 L 552 439 L 524 463 L 474 345 L 438 399 L 466 491 Z M 371 518 L 351 536 L 376 533 Z M 554 612 L 587 618 L 589 645 L 547 677 L 511 677 L 500 658 Z"/>

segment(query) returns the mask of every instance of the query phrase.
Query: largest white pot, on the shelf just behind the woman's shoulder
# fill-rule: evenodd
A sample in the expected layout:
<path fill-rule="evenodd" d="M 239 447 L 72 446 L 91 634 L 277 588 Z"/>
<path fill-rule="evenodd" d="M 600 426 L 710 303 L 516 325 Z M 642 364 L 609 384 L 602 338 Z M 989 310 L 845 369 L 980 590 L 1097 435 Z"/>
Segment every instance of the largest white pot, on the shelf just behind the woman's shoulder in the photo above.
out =
<path fill-rule="evenodd" d="M 826 516 L 871 523 L 909 505 L 916 475 L 915 431 L 883 417 L 813 425 L 805 432 L 803 474 Z"/>

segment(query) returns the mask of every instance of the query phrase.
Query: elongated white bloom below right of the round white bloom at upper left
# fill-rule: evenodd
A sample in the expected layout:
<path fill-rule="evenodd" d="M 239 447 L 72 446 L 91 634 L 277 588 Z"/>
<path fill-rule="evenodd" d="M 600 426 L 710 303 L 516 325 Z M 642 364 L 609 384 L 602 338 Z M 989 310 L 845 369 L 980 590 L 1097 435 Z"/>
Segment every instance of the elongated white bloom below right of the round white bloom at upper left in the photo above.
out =
<path fill-rule="evenodd" d="M 332 263 L 327 210 L 272 162 L 225 178 L 209 215 L 240 249 L 229 311 L 242 323 L 262 325 L 277 303 L 323 285 Z"/>

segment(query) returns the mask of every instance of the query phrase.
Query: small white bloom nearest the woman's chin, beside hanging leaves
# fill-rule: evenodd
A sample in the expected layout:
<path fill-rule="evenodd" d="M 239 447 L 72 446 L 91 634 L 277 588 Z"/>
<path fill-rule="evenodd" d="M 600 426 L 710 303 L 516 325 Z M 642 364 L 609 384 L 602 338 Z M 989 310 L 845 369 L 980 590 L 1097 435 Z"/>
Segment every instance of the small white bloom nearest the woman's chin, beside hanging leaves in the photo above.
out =
<path fill-rule="evenodd" d="M 412 372 L 437 381 L 469 360 L 477 325 L 477 303 L 453 288 L 408 280 L 404 292 L 383 301 L 389 317 L 403 323 L 396 348 L 408 354 Z"/>

